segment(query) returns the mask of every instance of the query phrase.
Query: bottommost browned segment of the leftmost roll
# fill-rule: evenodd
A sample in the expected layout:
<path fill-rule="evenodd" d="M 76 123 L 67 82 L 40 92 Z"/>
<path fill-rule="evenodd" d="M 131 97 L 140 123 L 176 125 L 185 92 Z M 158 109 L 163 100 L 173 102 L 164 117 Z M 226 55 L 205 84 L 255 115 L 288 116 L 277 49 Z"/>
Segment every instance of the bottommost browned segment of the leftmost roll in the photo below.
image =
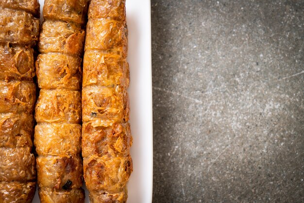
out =
<path fill-rule="evenodd" d="M 0 182 L 0 201 L 1 203 L 32 203 L 35 187 L 35 182 Z"/>

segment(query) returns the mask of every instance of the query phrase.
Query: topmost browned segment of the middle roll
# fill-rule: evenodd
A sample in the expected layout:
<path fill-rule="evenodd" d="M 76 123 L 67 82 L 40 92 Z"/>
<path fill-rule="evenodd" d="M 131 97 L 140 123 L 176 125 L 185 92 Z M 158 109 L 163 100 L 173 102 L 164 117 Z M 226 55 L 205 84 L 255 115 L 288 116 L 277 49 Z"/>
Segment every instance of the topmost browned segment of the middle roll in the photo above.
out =
<path fill-rule="evenodd" d="M 45 0 L 43 17 L 84 23 L 88 7 L 87 4 L 88 0 Z"/>

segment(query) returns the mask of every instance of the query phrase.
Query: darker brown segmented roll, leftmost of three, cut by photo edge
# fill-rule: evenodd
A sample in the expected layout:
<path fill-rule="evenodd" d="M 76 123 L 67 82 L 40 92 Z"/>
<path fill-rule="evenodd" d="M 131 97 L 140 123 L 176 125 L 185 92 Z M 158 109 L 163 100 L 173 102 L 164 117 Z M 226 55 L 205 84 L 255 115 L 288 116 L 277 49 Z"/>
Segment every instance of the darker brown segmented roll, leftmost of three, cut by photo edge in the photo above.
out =
<path fill-rule="evenodd" d="M 37 0 L 0 2 L 0 203 L 31 203 L 35 193 L 36 17 Z"/>

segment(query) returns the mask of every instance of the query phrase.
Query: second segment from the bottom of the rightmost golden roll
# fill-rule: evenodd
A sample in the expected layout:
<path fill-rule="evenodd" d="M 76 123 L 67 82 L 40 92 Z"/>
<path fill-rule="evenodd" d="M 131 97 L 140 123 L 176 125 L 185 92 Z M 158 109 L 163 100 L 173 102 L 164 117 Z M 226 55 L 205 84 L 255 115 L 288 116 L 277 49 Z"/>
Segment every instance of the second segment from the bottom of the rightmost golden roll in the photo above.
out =
<path fill-rule="evenodd" d="M 118 193 L 127 186 L 133 170 L 131 156 L 84 157 L 84 180 L 91 192 Z"/>

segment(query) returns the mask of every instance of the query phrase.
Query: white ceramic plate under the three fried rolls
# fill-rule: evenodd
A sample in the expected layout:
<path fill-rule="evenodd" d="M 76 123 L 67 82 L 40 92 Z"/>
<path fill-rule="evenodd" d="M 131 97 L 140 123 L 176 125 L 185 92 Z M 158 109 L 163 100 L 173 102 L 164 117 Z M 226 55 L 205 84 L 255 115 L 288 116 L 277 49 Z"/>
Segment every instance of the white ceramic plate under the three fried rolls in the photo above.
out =
<path fill-rule="evenodd" d="M 44 0 L 39 0 L 41 15 Z M 153 132 L 150 0 L 126 0 L 129 30 L 130 123 L 133 135 L 133 173 L 128 184 L 128 203 L 152 202 Z M 85 189 L 85 203 L 89 203 Z M 39 203 L 36 192 L 34 203 Z"/>

